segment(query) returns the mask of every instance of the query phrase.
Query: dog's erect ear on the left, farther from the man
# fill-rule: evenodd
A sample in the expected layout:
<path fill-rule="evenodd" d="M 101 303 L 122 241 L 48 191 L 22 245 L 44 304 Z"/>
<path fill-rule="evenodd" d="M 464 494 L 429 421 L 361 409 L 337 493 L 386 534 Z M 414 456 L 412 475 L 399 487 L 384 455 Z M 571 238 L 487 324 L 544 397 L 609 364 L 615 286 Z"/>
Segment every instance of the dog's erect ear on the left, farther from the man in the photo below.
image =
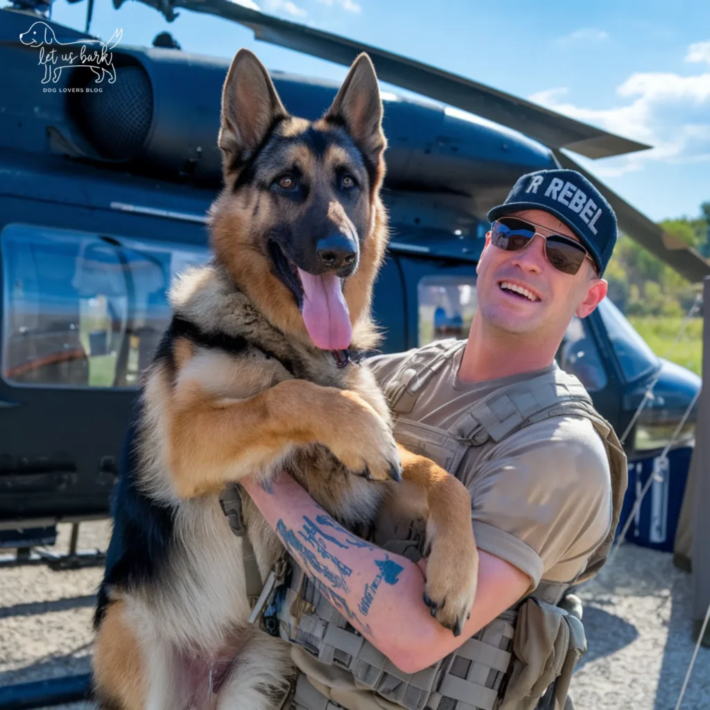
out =
<path fill-rule="evenodd" d="M 240 49 L 222 89 L 219 147 L 233 160 L 248 160 L 273 122 L 286 116 L 288 112 L 264 65 L 249 50 Z"/>

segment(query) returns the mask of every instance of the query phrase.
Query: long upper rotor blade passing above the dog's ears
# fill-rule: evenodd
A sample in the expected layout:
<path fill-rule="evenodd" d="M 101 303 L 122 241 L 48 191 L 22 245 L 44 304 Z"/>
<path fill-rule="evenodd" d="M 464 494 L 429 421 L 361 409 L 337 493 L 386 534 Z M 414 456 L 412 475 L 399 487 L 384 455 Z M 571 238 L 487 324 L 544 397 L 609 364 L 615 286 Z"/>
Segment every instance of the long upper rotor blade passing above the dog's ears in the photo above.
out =
<path fill-rule="evenodd" d="M 114 6 L 118 8 L 123 1 L 114 0 Z M 238 0 L 139 1 L 162 12 L 168 21 L 175 18 L 173 9 L 176 7 L 217 15 L 249 27 L 255 38 L 263 42 L 346 66 L 351 65 L 361 52 L 366 52 L 381 80 L 508 126 L 550 148 L 567 148 L 587 158 L 607 158 L 650 148 L 485 84 L 355 40 L 267 15 L 238 4 Z"/>

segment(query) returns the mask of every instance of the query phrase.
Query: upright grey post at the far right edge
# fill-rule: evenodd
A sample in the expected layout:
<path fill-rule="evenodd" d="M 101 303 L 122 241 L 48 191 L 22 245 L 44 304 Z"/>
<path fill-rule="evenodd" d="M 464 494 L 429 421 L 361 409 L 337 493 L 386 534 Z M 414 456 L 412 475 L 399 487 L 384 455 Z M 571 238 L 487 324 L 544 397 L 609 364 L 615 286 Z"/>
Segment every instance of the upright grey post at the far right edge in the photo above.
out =
<path fill-rule="evenodd" d="M 695 449 L 693 452 L 695 495 L 693 501 L 693 637 L 697 639 L 710 605 L 710 276 L 703 280 L 703 384 L 700 394 Z M 701 640 L 710 646 L 706 629 Z"/>

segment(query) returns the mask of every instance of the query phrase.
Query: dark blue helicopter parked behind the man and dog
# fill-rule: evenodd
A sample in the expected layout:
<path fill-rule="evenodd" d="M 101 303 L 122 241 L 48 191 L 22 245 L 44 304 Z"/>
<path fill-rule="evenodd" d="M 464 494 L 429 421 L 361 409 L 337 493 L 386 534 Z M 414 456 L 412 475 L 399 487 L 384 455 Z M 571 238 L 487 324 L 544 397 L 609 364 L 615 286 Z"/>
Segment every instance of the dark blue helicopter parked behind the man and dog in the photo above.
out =
<path fill-rule="evenodd" d="M 486 212 L 532 170 L 579 170 L 626 234 L 689 280 L 710 273 L 699 253 L 569 155 L 649 146 L 230 0 L 141 1 L 168 22 L 178 7 L 212 13 L 344 65 L 366 51 L 381 80 L 431 99 L 382 94 L 391 241 L 373 310 L 384 352 L 466 337 Z M 0 74 L 0 547 L 18 550 L 0 564 L 100 564 L 100 554 L 77 555 L 75 535 L 71 559 L 32 550 L 53 541 L 58 523 L 109 515 L 141 371 L 170 317 L 170 282 L 209 257 L 205 214 L 222 187 L 217 131 L 229 61 L 170 41 L 104 42 L 51 21 L 48 6 L 16 0 L 0 9 L 0 65 L 9 67 Z M 94 58 L 56 62 L 60 51 L 49 60 L 59 45 Z M 314 77 L 271 77 L 285 107 L 307 119 L 337 92 Z M 608 299 L 573 320 L 557 360 L 618 431 L 655 383 L 630 432 L 630 459 L 663 449 L 700 387 L 655 356 Z M 694 417 L 680 444 L 692 442 Z"/>

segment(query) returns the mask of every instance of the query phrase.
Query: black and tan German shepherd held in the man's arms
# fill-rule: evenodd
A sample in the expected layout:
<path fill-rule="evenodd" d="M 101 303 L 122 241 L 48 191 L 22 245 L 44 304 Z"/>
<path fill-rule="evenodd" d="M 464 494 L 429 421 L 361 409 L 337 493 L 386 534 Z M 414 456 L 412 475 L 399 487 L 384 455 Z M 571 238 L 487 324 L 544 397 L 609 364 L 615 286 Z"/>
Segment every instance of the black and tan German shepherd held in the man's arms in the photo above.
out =
<path fill-rule="evenodd" d="M 345 358 L 378 338 L 381 119 L 367 55 L 315 122 L 287 113 L 252 53 L 231 63 L 224 188 L 209 209 L 214 257 L 171 288 L 173 317 L 143 377 L 114 499 L 94 618 L 105 709 L 277 706 L 294 670 L 290 646 L 249 624 L 242 538 L 219 503 L 249 474 L 266 483 L 288 469 L 356 534 L 383 506 L 424 518 L 425 601 L 454 633 L 469 616 L 478 568 L 469 494 L 398 447 L 372 373 Z M 266 579 L 283 545 L 243 498 Z"/>

